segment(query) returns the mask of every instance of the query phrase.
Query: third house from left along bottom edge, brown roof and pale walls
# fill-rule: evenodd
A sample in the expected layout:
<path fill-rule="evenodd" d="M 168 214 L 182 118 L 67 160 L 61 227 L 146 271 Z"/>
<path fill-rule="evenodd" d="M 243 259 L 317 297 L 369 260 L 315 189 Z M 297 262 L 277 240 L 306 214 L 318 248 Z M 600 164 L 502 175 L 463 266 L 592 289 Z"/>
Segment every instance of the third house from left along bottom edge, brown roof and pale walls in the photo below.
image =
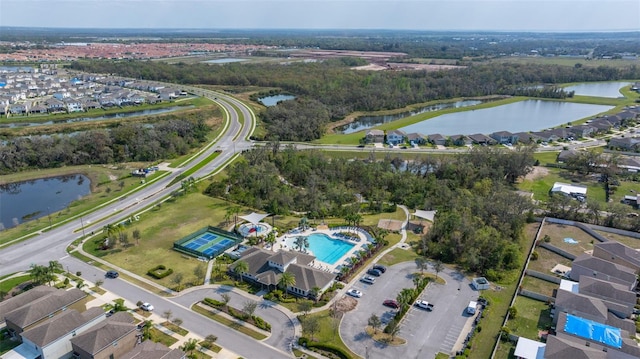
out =
<path fill-rule="evenodd" d="M 133 350 L 139 342 L 133 317 L 117 312 L 107 320 L 94 325 L 82 334 L 71 338 L 75 359 L 121 358 Z"/>

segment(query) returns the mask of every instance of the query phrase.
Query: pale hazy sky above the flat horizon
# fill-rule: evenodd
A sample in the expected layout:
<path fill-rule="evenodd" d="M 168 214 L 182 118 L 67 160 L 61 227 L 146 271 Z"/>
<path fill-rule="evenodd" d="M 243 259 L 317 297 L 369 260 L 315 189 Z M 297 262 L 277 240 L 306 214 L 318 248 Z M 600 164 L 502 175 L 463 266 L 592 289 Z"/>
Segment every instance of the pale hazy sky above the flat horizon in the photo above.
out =
<path fill-rule="evenodd" d="M 0 26 L 638 31 L 640 0 L 0 0 Z"/>

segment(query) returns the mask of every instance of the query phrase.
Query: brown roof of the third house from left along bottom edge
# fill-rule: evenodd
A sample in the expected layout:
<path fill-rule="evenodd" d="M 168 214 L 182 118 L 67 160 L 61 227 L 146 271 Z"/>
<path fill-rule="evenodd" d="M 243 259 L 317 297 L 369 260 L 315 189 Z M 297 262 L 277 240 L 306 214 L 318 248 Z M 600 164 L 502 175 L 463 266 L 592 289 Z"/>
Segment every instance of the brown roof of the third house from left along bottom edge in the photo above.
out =
<path fill-rule="evenodd" d="M 89 354 L 96 354 L 116 340 L 136 330 L 133 317 L 126 312 L 117 312 L 107 320 L 71 339 L 71 344 Z"/>

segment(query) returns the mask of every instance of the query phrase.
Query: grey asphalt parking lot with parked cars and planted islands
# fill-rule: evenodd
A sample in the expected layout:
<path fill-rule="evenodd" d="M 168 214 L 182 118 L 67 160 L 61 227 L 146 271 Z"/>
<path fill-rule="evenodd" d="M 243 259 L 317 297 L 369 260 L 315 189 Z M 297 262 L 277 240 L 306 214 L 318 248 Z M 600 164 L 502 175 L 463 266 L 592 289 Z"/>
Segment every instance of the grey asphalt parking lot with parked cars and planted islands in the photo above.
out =
<path fill-rule="evenodd" d="M 473 317 L 465 313 L 470 300 L 478 298 L 469 280 L 449 269 L 439 273 L 446 284 L 430 283 L 419 299 L 435 305 L 433 311 L 413 306 L 400 325 L 399 337 L 407 340 L 405 345 L 389 346 L 377 343 L 365 332 L 372 314 L 387 323 L 395 310 L 385 307 L 385 299 L 395 299 L 403 288 L 413 288 L 412 274 L 418 269 L 413 262 L 396 264 L 376 279 L 375 284 L 357 282 L 353 288 L 362 291 L 355 310 L 345 314 L 340 324 L 340 335 L 345 344 L 355 353 L 368 358 L 433 358 L 437 352 L 450 353 L 463 333 L 465 324 Z"/>

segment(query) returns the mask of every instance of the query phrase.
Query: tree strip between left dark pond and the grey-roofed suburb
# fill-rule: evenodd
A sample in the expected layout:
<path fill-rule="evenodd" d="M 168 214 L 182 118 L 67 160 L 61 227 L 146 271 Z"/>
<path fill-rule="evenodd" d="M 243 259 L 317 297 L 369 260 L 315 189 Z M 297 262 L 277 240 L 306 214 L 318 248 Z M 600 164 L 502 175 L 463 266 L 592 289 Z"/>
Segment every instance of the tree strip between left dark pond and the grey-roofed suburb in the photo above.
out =
<path fill-rule="evenodd" d="M 18 137 L 0 145 L 0 173 L 173 158 L 200 146 L 209 131 L 203 119 L 173 119 L 154 125 L 124 123 L 75 135 Z"/>

